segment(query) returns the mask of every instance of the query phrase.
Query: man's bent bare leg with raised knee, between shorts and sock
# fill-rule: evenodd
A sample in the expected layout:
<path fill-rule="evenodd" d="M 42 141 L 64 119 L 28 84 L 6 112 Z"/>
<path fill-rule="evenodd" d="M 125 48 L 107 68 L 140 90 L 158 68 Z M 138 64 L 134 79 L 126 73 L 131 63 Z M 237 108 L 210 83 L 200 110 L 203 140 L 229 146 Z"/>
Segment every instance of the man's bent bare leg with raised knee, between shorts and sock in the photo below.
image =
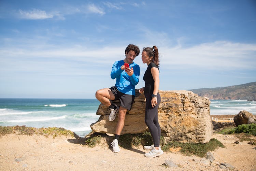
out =
<path fill-rule="evenodd" d="M 110 100 L 114 100 L 115 96 L 110 88 L 103 88 L 95 93 L 96 99 L 98 99 L 102 104 L 106 106 L 110 106 L 111 102 Z"/>

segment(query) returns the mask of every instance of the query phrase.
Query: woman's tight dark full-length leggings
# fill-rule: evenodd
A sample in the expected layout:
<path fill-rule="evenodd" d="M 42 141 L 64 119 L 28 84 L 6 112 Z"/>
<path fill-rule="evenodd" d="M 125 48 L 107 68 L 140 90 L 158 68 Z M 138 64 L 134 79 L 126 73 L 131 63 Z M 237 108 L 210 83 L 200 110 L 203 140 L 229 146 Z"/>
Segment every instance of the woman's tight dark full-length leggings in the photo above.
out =
<path fill-rule="evenodd" d="M 158 123 L 158 111 L 157 108 L 159 103 L 161 102 L 161 97 L 159 93 L 157 93 L 157 105 L 152 108 L 151 105 L 151 95 L 150 93 L 145 93 L 146 98 L 146 109 L 145 109 L 145 123 L 150 130 L 151 136 L 153 138 L 154 146 L 160 146 L 160 136 L 161 136 L 161 128 Z"/>

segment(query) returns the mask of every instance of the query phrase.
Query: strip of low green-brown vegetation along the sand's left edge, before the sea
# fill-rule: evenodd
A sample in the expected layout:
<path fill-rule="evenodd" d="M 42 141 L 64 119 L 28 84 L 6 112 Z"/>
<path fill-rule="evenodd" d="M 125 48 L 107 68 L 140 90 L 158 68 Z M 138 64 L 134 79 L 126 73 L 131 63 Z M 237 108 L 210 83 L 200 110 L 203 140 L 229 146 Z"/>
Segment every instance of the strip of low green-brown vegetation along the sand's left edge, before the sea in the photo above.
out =
<path fill-rule="evenodd" d="M 26 127 L 26 126 L 0 126 L 0 137 L 15 133 L 19 135 L 29 135 L 32 136 L 33 134 L 40 134 L 44 135 L 45 137 L 53 136 L 71 136 L 73 137 L 73 132 L 70 130 L 66 130 L 64 128 L 57 128 L 57 127 L 48 127 L 48 128 L 34 128 L 34 127 Z"/>

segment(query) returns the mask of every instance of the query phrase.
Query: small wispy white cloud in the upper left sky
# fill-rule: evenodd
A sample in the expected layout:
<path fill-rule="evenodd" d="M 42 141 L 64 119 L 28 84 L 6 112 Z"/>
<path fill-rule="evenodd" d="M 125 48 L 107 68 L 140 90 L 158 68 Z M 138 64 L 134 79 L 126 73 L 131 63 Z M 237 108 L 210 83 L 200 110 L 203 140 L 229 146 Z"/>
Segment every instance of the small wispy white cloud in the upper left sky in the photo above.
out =
<path fill-rule="evenodd" d="M 47 19 L 53 18 L 53 14 L 47 14 L 45 11 L 33 9 L 31 11 L 19 10 L 20 18 L 24 19 Z"/>

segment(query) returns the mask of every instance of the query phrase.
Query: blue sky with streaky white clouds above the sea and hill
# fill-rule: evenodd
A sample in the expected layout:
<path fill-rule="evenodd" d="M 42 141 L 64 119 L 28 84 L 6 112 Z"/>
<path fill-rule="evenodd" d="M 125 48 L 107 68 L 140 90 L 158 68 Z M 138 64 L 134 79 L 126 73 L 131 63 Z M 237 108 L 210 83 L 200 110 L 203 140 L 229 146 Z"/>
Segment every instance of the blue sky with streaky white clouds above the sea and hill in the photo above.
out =
<path fill-rule="evenodd" d="M 129 43 L 158 47 L 161 90 L 255 82 L 255 30 L 254 0 L 1 0 L 0 98 L 95 98 Z"/>

